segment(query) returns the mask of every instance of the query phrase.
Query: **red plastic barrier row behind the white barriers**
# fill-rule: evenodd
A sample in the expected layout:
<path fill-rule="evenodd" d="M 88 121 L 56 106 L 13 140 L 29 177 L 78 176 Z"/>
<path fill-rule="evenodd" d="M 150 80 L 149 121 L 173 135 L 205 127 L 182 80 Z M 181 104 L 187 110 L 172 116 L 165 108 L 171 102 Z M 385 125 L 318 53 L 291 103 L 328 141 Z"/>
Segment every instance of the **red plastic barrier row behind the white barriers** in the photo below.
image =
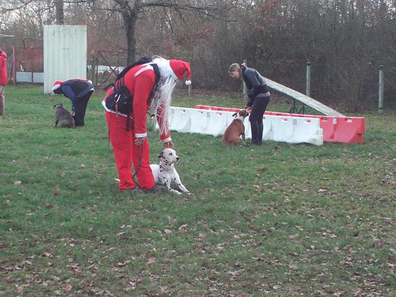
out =
<path fill-rule="evenodd" d="M 237 112 L 241 108 L 218 107 L 209 105 L 196 105 L 198 109 L 224 110 Z M 266 111 L 266 115 L 295 116 L 319 118 L 319 126 L 323 129 L 323 141 L 345 144 L 363 143 L 363 134 L 366 132 L 364 117 L 341 117 L 326 115 L 308 115 L 299 113 L 287 113 Z"/>

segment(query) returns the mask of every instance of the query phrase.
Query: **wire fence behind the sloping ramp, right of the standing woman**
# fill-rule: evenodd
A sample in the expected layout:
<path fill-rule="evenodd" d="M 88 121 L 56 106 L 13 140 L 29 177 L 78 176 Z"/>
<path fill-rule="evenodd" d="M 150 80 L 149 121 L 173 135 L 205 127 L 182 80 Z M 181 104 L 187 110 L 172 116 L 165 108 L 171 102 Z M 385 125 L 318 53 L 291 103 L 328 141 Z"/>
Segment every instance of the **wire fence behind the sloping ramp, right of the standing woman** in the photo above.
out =
<path fill-rule="evenodd" d="M 264 77 L 306 94 L 307 64 L 266 63 L 249 65 Z M 396 77 L 384 69 L 384 100 L 395 104 Z M 310 64 L 310 97 L 323 103 L 343 104 L 349 111 L 373 107 L 379 98 L 379 65 L 355 60 L 347 64 Z"/>

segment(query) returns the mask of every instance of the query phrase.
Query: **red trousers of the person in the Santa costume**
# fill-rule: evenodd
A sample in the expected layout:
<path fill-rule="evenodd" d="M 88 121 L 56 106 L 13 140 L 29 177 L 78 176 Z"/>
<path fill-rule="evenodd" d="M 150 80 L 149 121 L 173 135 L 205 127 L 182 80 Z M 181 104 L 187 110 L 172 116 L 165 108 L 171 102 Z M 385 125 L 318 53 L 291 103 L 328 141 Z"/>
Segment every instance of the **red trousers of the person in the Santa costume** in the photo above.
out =
<path fill-rule="evenodd" d="M 117 124 L 118 117 L 118 124 Z M 154 187 L 154 177 L 150 168 L 147 138 L 142 146 L 135 145 L 135 129 L 133 120 L 129 119 L 129 131 L 126 131 L 127 118 L 106 111 L 107 127 L 110 131 L 110 141 L 114 149 L 115 164 L 118 171 L 118 179 L 120 190 L 133 189 L 136 187 L 132 177 L 132 164 L 134 166 L 136 176 L 138 177 L 139 186 L 148 190 Z M 140 157 L 142 163 L 139 166 Z"/>

